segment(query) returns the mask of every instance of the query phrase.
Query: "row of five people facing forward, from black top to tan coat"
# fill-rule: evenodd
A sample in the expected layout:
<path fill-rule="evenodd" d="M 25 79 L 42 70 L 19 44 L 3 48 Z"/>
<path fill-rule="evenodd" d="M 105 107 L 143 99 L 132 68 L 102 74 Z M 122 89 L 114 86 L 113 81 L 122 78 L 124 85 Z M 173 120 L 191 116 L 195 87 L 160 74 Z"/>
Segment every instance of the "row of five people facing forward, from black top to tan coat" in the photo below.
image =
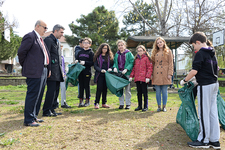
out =
<path fill-rule="evenodd" d="M 91 66 L 94 65 L 95 76 L 94 82 L 97 83 L 94 108 L 99 109 L 99 102 L 102 96 L 102 107 L 110 108 L 107 105 L 107 85 L 105 73 L 121 72 L 129 81 L 134 82 L 137 86 L 138 107 L 135 111 L 148 110 L 148 83 L 152 80 L 152 84 L 156 89 L 156 99 L 158 103 L 157 111 L 166 112 L 167 88 L 171 84 L 173 75 L 173 56 L 171 50 L 166 45 L 166 41 L 162 37 L 158 37 L 153 46 L 152 55 L 150 57 L 146 48 L 139 45 L 136 48 L 137 54 L 134 56 L 130 50 L 126 48 L 124 40 L 117 41 L 118 51 L 113 55 L 110 46 L 102 43 L 96 53 L 92 51 L 90 38 L 80 40 L 80 46 L 75 48 L 75 64 L 80 63 L 85 69 L 80 73 L 79 80 L 79 107 L 87 107 L 90 105 L 90 79 Z M 131 105 L 131 88 L 128 84 L 124 88 L 124 94 L 119 97 L 119 109 L 130 109 Z M 84 99 L 84 91 L 86 98 Z M 142 95 L 144 96 L 144 105 L 142 105 Z M 163 107 L 161 108 L 161 95 Z M 85 101 L 84 101 L 85 100 Z M 124 100 L 126 106 L 124 105 Z"/>

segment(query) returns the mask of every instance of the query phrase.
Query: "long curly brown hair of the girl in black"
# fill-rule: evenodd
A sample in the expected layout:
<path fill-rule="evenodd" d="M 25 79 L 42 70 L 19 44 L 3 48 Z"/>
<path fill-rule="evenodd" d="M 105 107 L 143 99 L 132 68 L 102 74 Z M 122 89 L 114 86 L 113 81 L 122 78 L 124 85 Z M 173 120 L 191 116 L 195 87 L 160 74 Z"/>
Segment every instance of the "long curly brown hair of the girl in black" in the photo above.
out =
<path fill-rule="evenodd" d="M 93 61 L 94 61 L 94 62 L 97 60 L 97 58 L 99 57 L 99 55 L 102 54 L 102 49 L 103 49 L 104 46 L 107 46 L 107 52 L 106 52 L 106 54 L 105 54 L 105 58 L 107 58 L 107 59 L 105 59 L 105 61 L 108 62 L 108 56 L 109 56 L 110 62 L 113 62 L 113 58 L 114 58 L 114 57 L 113 57 L 113 53 L 112 53 L 112 51 L 111 51 L 111 48 L 110 48 L 109 44 L 107 44 L 107 43 L 102 43 L 102 44 L 98 47 L 98 50 L 96 51 L 96 53 L 95 53 L 95 55 L 94 55 L 94 58 L 93 58 Z"/>

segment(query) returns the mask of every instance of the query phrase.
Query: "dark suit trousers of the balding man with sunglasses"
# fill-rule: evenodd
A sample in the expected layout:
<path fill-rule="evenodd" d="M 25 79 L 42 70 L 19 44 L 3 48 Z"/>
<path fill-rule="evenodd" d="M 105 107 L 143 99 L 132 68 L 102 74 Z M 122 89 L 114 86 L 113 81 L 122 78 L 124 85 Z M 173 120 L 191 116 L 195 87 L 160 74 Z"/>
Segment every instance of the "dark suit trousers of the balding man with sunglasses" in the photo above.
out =
<path fill-rule="evenodd" d="M 41 78 L 27 78 L 27 94 L 25 99 L 24 123 L 32 123 L 37 119 L 47 80 L 47 68 L 43 69 Z"/>

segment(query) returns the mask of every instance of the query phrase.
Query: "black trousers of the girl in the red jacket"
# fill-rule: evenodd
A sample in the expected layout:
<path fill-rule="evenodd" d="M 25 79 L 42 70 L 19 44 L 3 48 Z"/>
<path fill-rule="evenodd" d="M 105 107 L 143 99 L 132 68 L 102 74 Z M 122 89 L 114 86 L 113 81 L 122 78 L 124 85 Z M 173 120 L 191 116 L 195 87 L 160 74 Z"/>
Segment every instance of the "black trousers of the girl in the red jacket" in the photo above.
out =
<path fill-rule="evenodd" d="M 137 81 L 138 106 L 142 108 L 142 94 L 144 95 L 144 108 L 148 108 L 148 86 L 147 83 Z"/>

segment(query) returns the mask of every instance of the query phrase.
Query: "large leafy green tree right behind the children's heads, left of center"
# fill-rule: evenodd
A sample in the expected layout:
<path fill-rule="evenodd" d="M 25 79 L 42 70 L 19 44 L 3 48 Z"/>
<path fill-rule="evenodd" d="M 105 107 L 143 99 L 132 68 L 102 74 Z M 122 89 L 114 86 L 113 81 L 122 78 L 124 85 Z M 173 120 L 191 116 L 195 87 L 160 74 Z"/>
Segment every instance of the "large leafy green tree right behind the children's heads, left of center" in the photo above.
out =
<path fill-rule="evenodd" d="M 108 11 L 104 6 L 98 6 L 88 15 L 81 15 L 76 22 L 77 24 L 69 24 L 74 35 L 65 36 L 70 46 L 77 45 L 80 38 L 89 37 L 92 39 L 91 48 L 94 51 L 105 42 L 115 52 L 116 40 L 119 38 L 119 22 L 114 11 Z"/>

